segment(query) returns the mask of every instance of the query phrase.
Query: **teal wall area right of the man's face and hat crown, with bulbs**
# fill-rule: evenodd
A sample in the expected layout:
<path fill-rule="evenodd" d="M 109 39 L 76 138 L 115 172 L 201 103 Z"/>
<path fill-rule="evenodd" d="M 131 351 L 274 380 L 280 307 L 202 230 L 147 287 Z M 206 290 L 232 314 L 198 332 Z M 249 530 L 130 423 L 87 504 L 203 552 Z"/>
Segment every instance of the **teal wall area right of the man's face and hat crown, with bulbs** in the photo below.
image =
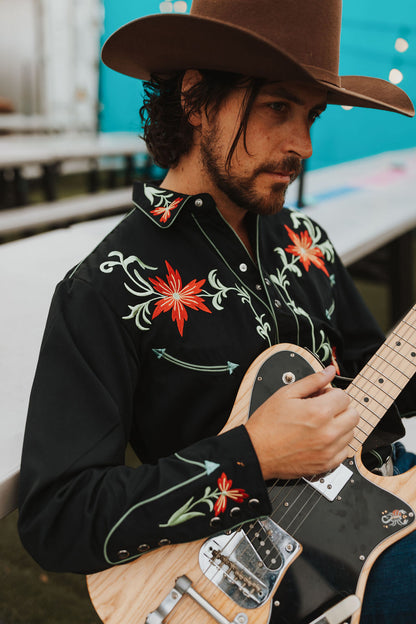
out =
<path fill-rule="evenodd" d="M 396 52 L 397 37 L 409 41 Z M 415 0 L 344 0 L 340 74 L 360 74 L 388 80 L 399 69 L 400 83 L 416 103 Z M 396 113 L 329 106 L 313 130 L 311 168 L 353 160 L 380 152 L 416 146 L 416 119 Z"/>

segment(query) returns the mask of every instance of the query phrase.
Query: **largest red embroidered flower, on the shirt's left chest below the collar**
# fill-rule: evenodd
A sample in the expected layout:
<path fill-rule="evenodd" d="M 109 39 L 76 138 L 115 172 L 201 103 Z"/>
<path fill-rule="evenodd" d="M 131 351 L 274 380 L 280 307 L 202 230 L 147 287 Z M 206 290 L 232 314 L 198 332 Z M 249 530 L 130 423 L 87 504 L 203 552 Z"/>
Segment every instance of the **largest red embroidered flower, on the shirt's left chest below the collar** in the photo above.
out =
<path fill-rule="evenodd" d="M 182 287 L 182 279 L 178 271 L 174 271 L 167 261 L 166 268 L 168 270 L 166 282 L 160 277 L 156 277 L 156 279 L 149 277 L 149 281 L 153 284 L 154 289 L 162 295 L 156 303 L 152 318 L 159 316 L 161 312 L 172 310 L 172 321 L 176 321 L 179 333 L 183 336 L 183 325 L 188 320 L 185 306 L 192 310 L 203 310 L 211 314 L 211 310 L 208 310 L 203 298 L 198 296 L 205 280 L 200 280 L 199 282 L 192 280 L 189 284 Z"/>

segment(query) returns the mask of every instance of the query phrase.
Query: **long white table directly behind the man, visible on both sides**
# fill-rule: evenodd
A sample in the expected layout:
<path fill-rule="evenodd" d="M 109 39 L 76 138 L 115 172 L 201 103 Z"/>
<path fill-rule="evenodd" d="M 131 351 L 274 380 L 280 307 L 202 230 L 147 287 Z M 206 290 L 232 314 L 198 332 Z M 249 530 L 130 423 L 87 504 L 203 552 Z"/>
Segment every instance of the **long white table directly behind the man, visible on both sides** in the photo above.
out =
<path fill-rule="evenodd" d="M 403 168 L 392 170 L 399 160 Z M 347 264 L 416 225 L 415 164 L 413 151 L 308 175 L 306 194 L 320 201 L 307 212 L 327 229 Z M 0 517 L 16 505 L 27 403 L 54 286 L 119 220 L 82 223 L 0 246 Z M 416 419 L 407 426 L 416 450 Z"/>

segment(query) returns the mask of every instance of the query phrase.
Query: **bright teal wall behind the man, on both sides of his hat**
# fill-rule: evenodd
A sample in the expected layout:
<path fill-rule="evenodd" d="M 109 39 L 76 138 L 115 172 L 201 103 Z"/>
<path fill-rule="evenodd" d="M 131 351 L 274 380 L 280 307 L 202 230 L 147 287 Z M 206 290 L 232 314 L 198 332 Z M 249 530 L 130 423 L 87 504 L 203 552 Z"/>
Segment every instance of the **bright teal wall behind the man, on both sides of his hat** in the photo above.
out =
<path fill-rule="evenodd" d="M 255 0 L 252 0 L 255 2 Z M 160 0 L 103 0 L 103 41 L 127 21 L 159 13 Z M 165 0 L 165 6 L 174 0 Z M 187 2 L 188 7 L 190 2 Z M 397 37 L 409 41 L 404 54 L 396 52 Z M 416 102 L 416 0 L 344 0 L 341 74 L 361 74 L 388 80 L 396 67 L 400 83 Z M 139 81 L 101 63 L 100 127 L 103 131 L 139 132 Z M 313 128 L 314 155 L 310 168 L 353 160 L 387 150 L 416 146 L 416 120 L 395 113 L 329 106 Z"/>

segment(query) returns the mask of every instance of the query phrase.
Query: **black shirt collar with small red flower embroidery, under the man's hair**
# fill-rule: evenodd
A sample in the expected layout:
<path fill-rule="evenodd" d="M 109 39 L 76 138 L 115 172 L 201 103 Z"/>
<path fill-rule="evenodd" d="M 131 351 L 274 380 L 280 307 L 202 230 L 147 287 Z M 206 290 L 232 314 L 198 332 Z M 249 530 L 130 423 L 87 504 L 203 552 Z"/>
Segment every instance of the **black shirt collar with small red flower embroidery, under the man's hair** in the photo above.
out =
<path fill-rule="evenodd" d="M 135 182 L 133 185 L 133 203 L 136 208 L 163 229 L 170 227 L 175 222 L 188 202 L 193 206 L 198 206 L 200 197 L 206 198 L 207 196 L 176 193 L 149 182 L 145 184 Z"/>

